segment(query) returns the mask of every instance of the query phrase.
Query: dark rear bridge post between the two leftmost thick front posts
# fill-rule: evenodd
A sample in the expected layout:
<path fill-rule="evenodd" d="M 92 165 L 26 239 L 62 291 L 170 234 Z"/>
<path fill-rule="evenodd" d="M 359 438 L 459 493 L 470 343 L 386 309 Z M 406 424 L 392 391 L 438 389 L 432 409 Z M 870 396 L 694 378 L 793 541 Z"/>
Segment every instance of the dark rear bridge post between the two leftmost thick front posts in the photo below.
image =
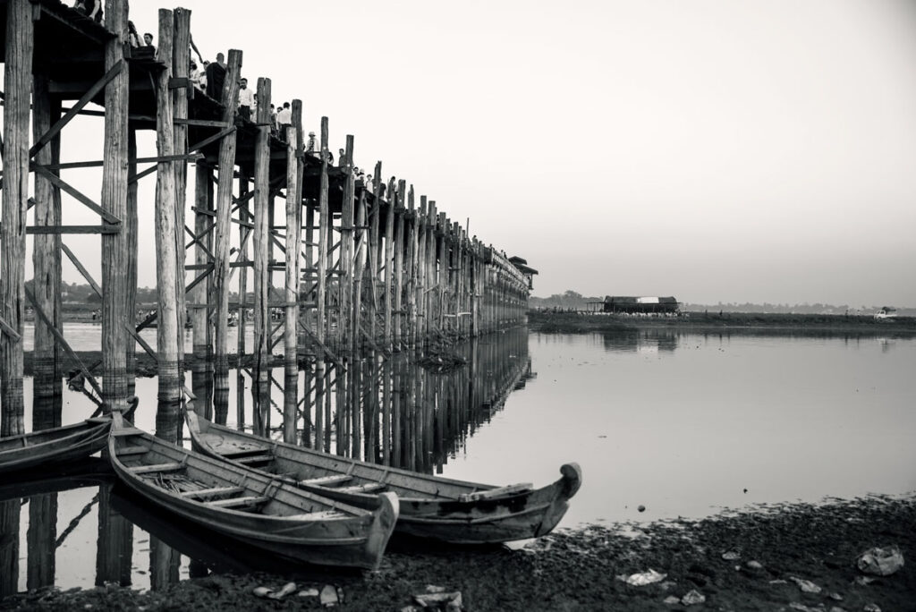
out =
<path fill-rule="evenodd" d="M 49 80 L 36 76 L 32 89 L 33 116 L 32 132 L 36 140 L 44 136 L 50 126 L 60 118 L 60 100 L 51 99 L 48 92 Z M 38 151 L 38 164 L 60 163 L 60 135 Z M 55 170 L 51 170 L 55 172 Z M 60 189 L 38 172 L 35 174 L 35 224 L 60 225 Z M 62 330 L 60 320 L 60 234 L 37 234 L 32 249 L 34 269 L 35 300 L 45 311 L 51 323 Z M 128 343 L 132 345 L 132 343 Z M 60 350 L 49 326 L 41 317 L 35 317 L 35 350 L 33 352 L 34 403 L 33 422 L 57 421 L 60 426 L 61 383 L 63 376 L 60 364 Z M 38 411 L 45 411 L 40 418 Z M 34 427 L 33 429 L 38 429 Z"/>

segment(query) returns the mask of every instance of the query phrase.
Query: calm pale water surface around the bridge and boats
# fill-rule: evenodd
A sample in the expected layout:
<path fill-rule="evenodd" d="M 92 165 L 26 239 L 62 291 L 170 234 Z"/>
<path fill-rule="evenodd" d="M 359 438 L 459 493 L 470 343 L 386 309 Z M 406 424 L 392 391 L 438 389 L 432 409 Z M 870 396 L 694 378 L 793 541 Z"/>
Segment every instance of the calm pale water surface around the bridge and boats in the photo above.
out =
<path fill-rule="evenodd" d="M 92 343 L 98 332 L 92 333 L 71 337 Z M 77 350 L 97 346 L 74 344 Z M 418 471 L 496 484 L 545 485 L 559 477 L 562 463 L 576 461 L 583 487 L 562 527 L 916 490 L 916 340 L 506 333 L 459 352 L 468 363 L 448 374 L 402 358 L 366 361 L 362 374 L 338 381 L 369 398 L 362 413 L 337 410 L 343 396 L 332 394 L 333 427 L 324 420 L 320 443 L 331 451 L 388 456 Z M 282 381 L 281 370 L 277 379 Z M 390 396 L 376 382 L 386 379 Z M 227 422 L 238 421 L 240 397 L 250 424 L 250 380 L 241 377 L 241 395 L 234 373 L 230 381 Z M 27 397 L 30 389 L 27 380 Z M 282 390 L 272 393 L 282 407 Z M 137 395 L 155 398 L 156 380 L 138 379 Z M 67 393 L 63 420 L 77 421 L 89 409 L 87 399 Z M 155 403 L 141 402 L 137 424 L 154 429 L 154 410 Z M 272 412 L 278 426 L 278 411 Z M 316 417 L 310 415 L 312 423 Z M 0 587 L 6 585 L 0 590 L 105 580 L 156 588 L 206 574 L 208 567 L 244 571 L 233 566 L 239 555 L 213 551 L 193 530 L 109 488 L 90 482 L 26 497 L 18 534 L 0 534 L 4 541 L 16 535 L 19 541 L 18 574 L 0 580 Z M 12 511 L 27 493 L 7 492 L 5 498 L 14 499 L 0 506 Z M 646 510 L 639 513 L 639 505 Z M 36 524 L 31 531 L 30 520 Z M 46 536 L 42 546 L 45 532 L 60 542 Z M 30 538 L 33 551 L 45 551 L 40 563 L 38 552 L 28 558 Z"/>

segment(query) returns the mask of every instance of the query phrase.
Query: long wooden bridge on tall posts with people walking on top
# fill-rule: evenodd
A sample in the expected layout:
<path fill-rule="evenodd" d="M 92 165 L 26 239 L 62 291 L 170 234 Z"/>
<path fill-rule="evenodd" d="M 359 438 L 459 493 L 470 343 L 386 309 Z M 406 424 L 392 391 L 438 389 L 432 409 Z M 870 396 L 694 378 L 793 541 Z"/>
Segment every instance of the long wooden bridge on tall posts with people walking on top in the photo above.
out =
<path fill-rule="evenodd" d="M 285 393 L 288 440 L 295 438 L 300 403 L 295 393 L 300 355 L 314 358 L 315 379 L 324 380 L 330 369 L 344 370 L 365 347 L 381 353 L 422 350 L 432 341 L 524 322 L 533 270 L 468 236 L 436 202 L 417 197 L 405 180 L 391 180 L 383 191 L 380 162 L 372 189 L 356 180 L 354 137 L 346 137 L 344 158 L 332 167 L 327 117 L 322 117 L 320 150 L 304 146 L 299 100 L 292 103 L 286 134 L 272 134 L 271 82 L 260 78 L 256 116 L 240 118 L 242 51 L 228 52 L 219 100 L 193 87 L 191 11 L 159 11 L 152 57 L 128 44 L 125 0 L 105 1 L 104 25 L 56 0 L 3 0 L 0 16 L 5 19 L 0 27 L 5 63 L 0 434 L 24 429 L 27 305 L 36 317 L 36 399 L 60 406 L 63 352 L 78 364 L 94 401 L 114 410 L 125 409 L 133 394 L 136 344 L 157 359 L 159 410 L 177 410 L 185 392 L 181 340 L 186 318 L 193 328 L 195 361 L 211 364 L 213 401 L 224 406 L 227 327 L 231 310 L 241 312 L 236 353 L 250 355 L 256 396 L 266 402 L 271 350 L 283 343 L 287 387 L 293 386 Z M 88 109 L 89 103 L 104 111 Z M 77 115 L 97 116 L 104 123 L 104 150 L 94 160 L 61 163 L 60 138 Z M 156 157 L 137 158 L 137 130 L 156 131 Z M 98 194 L 82 193 L 64 178 L 65 170 L 87 168 L 101 169 Z M 137 267 L 147 263 L 137 260 L 137 189 L 152 174 L 155 214 L 143 221 L 156 227 L 158 309 L 136 325 Z M 34 197 L 29 197 L 33 175 Z M 68 205 L 98 214 L 99 223 L 62 225 L 61 191 L 70 197 Z M 278 199 L 286 213 L 281 211 L 280 219 Z M 34 221 L 28 224 L 32 208 Z M 27 234 L 34 235 L 34 293 L 25 285 Z M 100 235 L 101 282 L 63 244 L 67 234 Z M 99 364 L 80 362 L 62 333 L 61 253 L 102 298 Z M 254 269 L 253 286 L 247 285 L 247 273 L 236 276 L 238 268 Z M 186 282 L 189 271 L 193 279 Z M 281 274 L 283 281 L 275 287 Z M 230 302 L 233 285 L 239 296 L 235 303 Z M 251 293 L 254 301 L 247 299 Z M 277 309 L 285 315 L 280 320 L 272 317 Z M 250 352 L 245 311 L 254 313 Z M 155 348 L 138 335 L 154 319 Z M 59 410 L 56 419 L 36 415 L 36 422 L 46 425 L 55 420 L 60 421 Z"/>

